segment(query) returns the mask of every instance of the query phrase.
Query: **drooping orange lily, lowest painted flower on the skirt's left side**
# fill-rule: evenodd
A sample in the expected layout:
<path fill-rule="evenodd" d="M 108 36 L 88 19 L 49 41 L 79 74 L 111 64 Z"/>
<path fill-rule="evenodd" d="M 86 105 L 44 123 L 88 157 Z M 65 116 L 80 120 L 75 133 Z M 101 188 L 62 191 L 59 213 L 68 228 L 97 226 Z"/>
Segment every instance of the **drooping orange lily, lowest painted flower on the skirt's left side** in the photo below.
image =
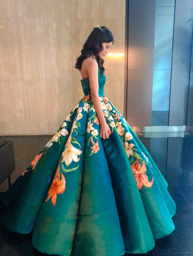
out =
<path fill-rule="evenodd" d="M 62 172 L 60 171 L 61 174 L 61 180 L 60 180 L 60 174 L 59 174 L 59 169 L 60 169 L 60 165 L 58 165 L 58 169 L 55 175 L 55 179 L 53 179 L 51 187 L 49 188 L 48 191 L 48 198 L 45 200 L 48 201 L 49 198 L 52 197 L 52 204 L 55 206 L 56 204 L 56 198 L 57 198 L 57 194 L 61 194 L 65 191 L 66 188 L 66 180 L 64 175 L 62 174 Z"/>

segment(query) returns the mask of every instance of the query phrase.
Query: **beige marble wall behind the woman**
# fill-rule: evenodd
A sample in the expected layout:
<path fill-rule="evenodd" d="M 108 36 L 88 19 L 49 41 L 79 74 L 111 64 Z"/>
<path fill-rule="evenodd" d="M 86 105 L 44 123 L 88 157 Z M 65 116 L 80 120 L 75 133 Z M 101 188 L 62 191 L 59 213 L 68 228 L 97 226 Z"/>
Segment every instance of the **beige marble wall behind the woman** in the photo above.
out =
<path fill-rule="evenodd" d="M 74 65 L 98 24 L 114 35 L 104 91 L 123 114 L 125 0 L 0 1 L 0 135 L 56 132 L 84 96 Z"/>

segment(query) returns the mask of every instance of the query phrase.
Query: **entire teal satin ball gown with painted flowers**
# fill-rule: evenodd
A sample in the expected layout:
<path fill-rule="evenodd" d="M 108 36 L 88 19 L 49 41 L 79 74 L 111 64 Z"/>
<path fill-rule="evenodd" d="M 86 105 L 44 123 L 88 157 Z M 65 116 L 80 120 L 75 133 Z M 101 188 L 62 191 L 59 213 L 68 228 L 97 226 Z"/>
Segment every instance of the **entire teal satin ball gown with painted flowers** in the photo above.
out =
<path fill-rule="evenodd" d="M 175 229 L 176 204 L 166 180 L 104 95 L 106 77 L 100 68 L 98 82 L 109 138 L 100 138 L 89 78 L 84 78 L 84 97 L 3 195 L 5 228 L 33 231 L 32 244 L 43 253 L 146 253 L 155 239 Z"/>

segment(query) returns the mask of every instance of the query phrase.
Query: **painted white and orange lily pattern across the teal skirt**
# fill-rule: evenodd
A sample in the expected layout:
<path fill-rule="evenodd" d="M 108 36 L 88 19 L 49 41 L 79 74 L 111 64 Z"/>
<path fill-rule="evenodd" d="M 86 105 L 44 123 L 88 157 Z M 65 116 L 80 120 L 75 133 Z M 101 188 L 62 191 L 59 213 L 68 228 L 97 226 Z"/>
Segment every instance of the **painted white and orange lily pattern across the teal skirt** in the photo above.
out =
<path fill-rule="evenodd" d="M 137 145 L 135 145 L 135 141 L 131 133 L 129 132 L 128 123 L 125 118 L 121 115 L 121 113 L 114 107 L 114 105 L 109 101 L 106 96 L 100 96 L 101 107 L 103 111 L 103 115 L 106 119 L 107 124 L 111 128 L 111 134 L 116 130 L 120 139 L 122 141 L 125 152 L 128 156 L 128 159 L 131 164 L 131 169 L 134 175 L 134 179 L 136 181 L 136 185 L 138 189 L 141 189 L 142 186 L 150 188 L 153 185 L 152 181 L 148 181 L 148 176 L 146 173 L 146 165 L 151 165 L 148 161 L 146 155 L 140 151 L 138 151 Z M 79 106 L 81 103 L 81 106 Z M 75 109 L 77 112 L 75 113 Z M 52 181 L 52 184 L 48 191 L 48 197 L 45 201 L 48 201 L 49 198 L 52 197 L 52 204 L 55 206 L 57 194 L 61 194 L 65 191 L 66 188 L 66 180 L 63 173 L 71 172 L 78 169 L 78 162 L 80 160 L 81 154 L 84 154 L 84 151 L 81 149 L 81 145 L 78 142 L 78 137 L 72 135 L 78 135 L 78 128 L 81 127 L 81 118 L 84 113 L 91 114 L 87 119 L 87 128 L 86 133 L 89 135 L 87 140 L 87 146 L 90 148 L 90 155 L 97 154 L 100 151 L 99 147 L 99 129 L 100 129 L 100 121 L 96 114 L 93 101 L 91 99 L 90 94 L 85 95 L 81 101 L 73 108 L 73 110 L 68 114 L 65 121 L 62 123 L 61 127 L 58 131 L 53 135 L 53 137 L 47 142 L 45 148 L 40 151 L 41 153 L 36 156 L 36 158 L 31 162 L 32 170 L 35 168 L 38 160 L 42 156 L 43 152 L 49 149 L 53 143 L 59 143 L 62 136 L 68 135 L 68 139 L 64 146 L 64 150 L 59 159 L 58 168 L 55 174 L 55 178 Z M 67 128 L 67 123 L 71 122 L 71 116 L 75 113 L 73 123 L 71 125 L 71 131 Z M 70 132 L 70 134 L 69 134 Z M 74 133 L 73 133 L 74 132 Z M 111 136 L 111 135 L 110 135 Z M 110 138 L 110 137 L 109 137 Z M 108 138 L 108 139 L 109 139 Z M 144 161 L 145 160 L 145 161 Z M 65 165 L 64 165 L 65 163 Z M 71 167 L 72 163 L 77 163 L 75 167 Z M 141 165 L 140 165 L 141 163 Z M 61 169 L 61 171 L 60 171 Z M 22 172 L 22 176 L 27 172 L 24 170 Z M 60 180 L 61 175 L 61 180 Z"/>

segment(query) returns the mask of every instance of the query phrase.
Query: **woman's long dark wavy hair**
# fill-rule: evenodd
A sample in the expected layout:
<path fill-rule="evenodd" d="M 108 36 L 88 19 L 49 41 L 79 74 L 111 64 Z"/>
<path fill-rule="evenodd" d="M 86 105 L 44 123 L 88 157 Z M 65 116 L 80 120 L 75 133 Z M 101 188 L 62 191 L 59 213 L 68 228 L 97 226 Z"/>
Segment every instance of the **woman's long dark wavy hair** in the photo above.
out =
<path fill-rule="evenodd" d="M 102 70 L 101 74 L 104 73 L 104 60 L 100 58 L 99 52 L 103 50 L 102 43 L 112 42 L 112 44 L 114 44 L 114 38 L 107 27 L 101 26 L 101 28 L 102 30 L 100 30 L 98 27 L 94 27 L 93 31 L 88 36 L 87 41 L 84 43 L 83 49 L 81 50 L 81 55 L 77 58 L 76 65 L 74 66 L 74 68 L 79 69 L 79 71 L 81 70 L 83 60 L 89 58 L 93 53 L 99 68 Z"/>

